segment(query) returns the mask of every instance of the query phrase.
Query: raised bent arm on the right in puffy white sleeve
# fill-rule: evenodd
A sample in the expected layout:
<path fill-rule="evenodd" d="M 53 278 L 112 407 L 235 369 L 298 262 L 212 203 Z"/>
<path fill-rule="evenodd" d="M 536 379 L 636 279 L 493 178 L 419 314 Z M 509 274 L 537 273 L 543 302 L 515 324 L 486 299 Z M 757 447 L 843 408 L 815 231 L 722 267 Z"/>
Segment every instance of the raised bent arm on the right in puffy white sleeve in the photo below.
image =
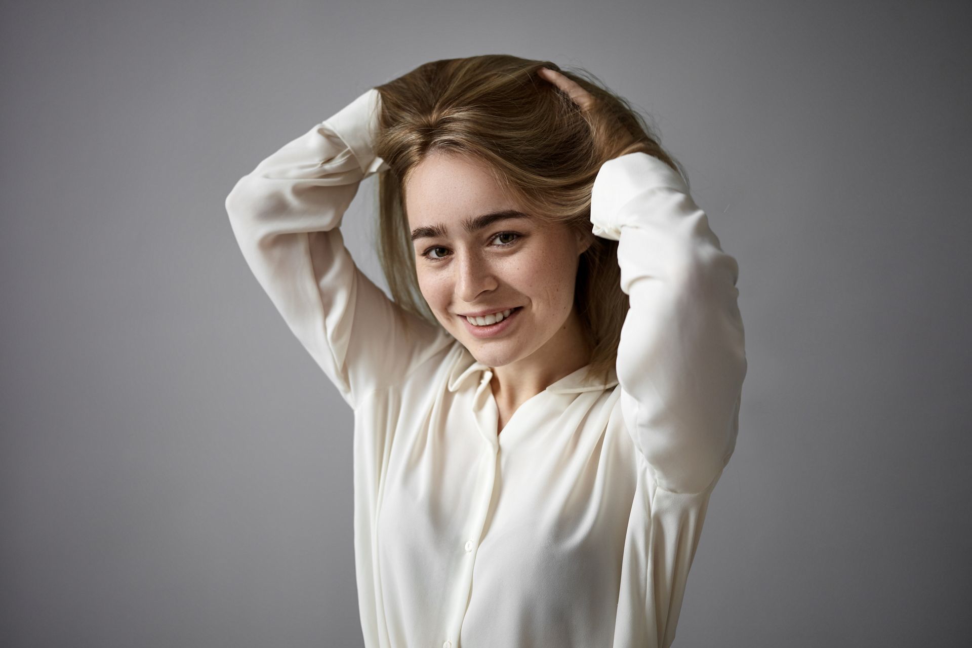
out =
<path fill-rule="evenodd" d="M 591 221 L 595 234 L 618 241 L 621 290 L 631 302 L 617 354 L 625 422 L 660 488 L 703 492 L 739 428 L 739 266 L 681 177 L 646 153 L 602 165 Z"/>

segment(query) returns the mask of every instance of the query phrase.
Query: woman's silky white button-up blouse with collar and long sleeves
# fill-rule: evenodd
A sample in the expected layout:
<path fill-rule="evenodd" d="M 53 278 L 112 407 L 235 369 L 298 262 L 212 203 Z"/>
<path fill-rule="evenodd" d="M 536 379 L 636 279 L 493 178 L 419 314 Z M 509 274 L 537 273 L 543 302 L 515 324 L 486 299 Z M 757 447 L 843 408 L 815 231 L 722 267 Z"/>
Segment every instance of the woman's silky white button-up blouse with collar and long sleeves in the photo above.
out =
<path fill-rule="evenodd" d="M 668 646 L 746 375 L 736 260 L 669 166 L 606 162 L 594 233 L 630 296 L 616 370 L 583 369 L 498 433 L 492 371 L 408 315 L 338 229 L 375 157 L 368 89 L 240 179 L 226 211 L 286 323 L 354 409 L 368 648 Z"/>

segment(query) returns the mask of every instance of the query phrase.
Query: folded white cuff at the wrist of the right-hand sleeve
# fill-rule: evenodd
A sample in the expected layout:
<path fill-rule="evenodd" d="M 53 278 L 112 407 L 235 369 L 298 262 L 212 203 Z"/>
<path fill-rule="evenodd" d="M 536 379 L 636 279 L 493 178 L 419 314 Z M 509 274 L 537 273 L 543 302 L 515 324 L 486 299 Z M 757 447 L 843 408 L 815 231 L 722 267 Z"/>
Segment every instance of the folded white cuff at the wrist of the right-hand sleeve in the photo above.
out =
<path fill-rule="evenodd" d="M 614 157 L 601 165 L 591 190 L 591 223 L 597 236 L 621 239 L 621 208 L 647 189 L 672 188 L 688 193 L 675 169 L 647 153 Z"/>

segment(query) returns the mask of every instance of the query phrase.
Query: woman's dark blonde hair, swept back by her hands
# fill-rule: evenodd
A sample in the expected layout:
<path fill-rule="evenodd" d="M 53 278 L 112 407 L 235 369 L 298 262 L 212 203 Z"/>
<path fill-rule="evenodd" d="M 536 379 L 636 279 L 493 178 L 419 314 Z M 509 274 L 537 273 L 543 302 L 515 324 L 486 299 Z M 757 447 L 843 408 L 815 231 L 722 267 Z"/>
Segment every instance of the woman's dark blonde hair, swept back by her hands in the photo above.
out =
<path fill-rule="evenodd" d="M 539 77 L 540 67 L 557 70 L 590 92 L 601 117 L 581 111 Z M 483 162 L 532 217 L 565 223 L 595 239 L 578 259 L 573 303 L 592 344 L 588 377 L 607 376 L 629 301 L 620 287 L 617 241 L 591 233 L 591 189 L 604 162 L 639 151 L 658 157 L 687 183 L 654 128 L 589 72 L 506 54 L 431 61 L 376 87 L 381 115 L 374 151 L 390 167 L 379 174 L 378 257 L 392 299 L 441 328 L 419 290 L 402 191 L 429 153 L 469 155 Z M 630 136 L 606 129 L 611 117 Z"/>

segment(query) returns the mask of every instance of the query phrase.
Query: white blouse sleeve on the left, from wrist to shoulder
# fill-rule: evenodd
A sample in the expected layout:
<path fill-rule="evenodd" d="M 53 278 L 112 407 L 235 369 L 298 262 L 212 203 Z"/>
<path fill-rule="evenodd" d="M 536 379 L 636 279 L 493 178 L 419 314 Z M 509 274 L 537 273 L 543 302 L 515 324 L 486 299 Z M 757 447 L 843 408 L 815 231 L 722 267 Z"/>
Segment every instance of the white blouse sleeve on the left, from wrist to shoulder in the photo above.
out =
<path fill-rule="evenodd" d="M 263 159 L 226 197 L 233 233 L 260 286 L 352 407 L 445 342 L 361 272 L 340 233 L 361 181 L 388 168 L 371 148 L 379 101 L 378 90 L 368 89 Z"/>

